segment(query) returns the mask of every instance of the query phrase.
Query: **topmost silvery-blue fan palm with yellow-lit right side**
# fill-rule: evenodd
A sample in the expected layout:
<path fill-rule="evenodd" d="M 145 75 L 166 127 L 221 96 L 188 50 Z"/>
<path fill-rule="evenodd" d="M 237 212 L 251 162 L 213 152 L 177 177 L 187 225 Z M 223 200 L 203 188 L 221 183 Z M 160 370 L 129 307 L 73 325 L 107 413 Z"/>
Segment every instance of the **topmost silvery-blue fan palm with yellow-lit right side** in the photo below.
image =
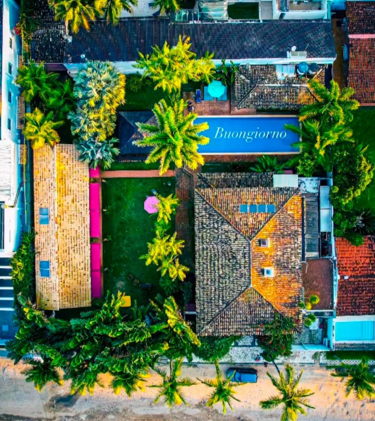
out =
<path fill-rule="evenodd" d="M 74 78 L 78 107 L 104 109 L 115 113 L 125 103 L 125 75 L 109 61 L 88 61 Z"/>

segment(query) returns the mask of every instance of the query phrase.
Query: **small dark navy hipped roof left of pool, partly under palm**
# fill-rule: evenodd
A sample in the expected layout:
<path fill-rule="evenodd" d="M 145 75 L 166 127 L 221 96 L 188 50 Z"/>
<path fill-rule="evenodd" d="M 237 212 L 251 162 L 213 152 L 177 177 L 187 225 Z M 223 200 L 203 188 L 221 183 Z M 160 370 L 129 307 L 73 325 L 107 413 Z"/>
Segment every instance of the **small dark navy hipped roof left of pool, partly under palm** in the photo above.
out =
<path fill-rule="evenodd" d="M 148 155 L 149 148 L 140 148 L 133 141 L 143 138 L 136 123 L 155 124 L 152 111 L 120 111 L 118 112 L 117 136 L 120 141 L 121 155 Z"/>

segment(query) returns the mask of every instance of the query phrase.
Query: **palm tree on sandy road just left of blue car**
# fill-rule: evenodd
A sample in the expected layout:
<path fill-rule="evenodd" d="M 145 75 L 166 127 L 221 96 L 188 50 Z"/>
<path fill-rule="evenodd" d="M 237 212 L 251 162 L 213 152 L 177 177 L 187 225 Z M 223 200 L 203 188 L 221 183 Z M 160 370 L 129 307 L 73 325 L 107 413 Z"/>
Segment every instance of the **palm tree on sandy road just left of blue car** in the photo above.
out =
<path fill-rule="evenodd" d="M 244 383 L 237 383 L 233 382 L 232 378 L 233 375 L 230 378 L 227 378 L 226 380 L 222 377 L 220 373 L 220 367 L 219 362 L 215 360 L 215 367 L 216 367 L 216 378 L 215 380 L 198 380 L 209 387 L 214 387 L 214 391 L 212 392 L 209 400 L 206 402 L 206 405 L 212 408 L 214 404 L 221 403 L 222 404 L 222 412 L 225 414 L 227 412 L 226 405 L 229 406 L 229 408 L 233 411 L 232 402 L 231 400 L 234 399 L 237 402 L 241 402 L 239 399 L 234 397 L 233 395 L 236 393 L 234 390 L 235 387 L 240 386 Z"/>

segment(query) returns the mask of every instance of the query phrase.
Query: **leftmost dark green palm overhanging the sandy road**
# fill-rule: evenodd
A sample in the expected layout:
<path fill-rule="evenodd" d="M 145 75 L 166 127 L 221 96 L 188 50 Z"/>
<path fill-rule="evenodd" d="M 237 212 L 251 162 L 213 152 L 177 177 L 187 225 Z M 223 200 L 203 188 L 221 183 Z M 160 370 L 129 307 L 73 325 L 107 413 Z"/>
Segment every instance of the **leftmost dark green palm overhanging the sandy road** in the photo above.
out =
<path fill-rule="evenodd" d="M 35 389 L 39 393 L 50 381 L 59 385 L 63 383 L 57 368 L 51 364 L 50 359 L 44 358 L 43 361 L 30 359 L 26 362 L 31 367 L 22 371 L 22 374 L 26 375 L 26 381 L 34 383 Z"/>

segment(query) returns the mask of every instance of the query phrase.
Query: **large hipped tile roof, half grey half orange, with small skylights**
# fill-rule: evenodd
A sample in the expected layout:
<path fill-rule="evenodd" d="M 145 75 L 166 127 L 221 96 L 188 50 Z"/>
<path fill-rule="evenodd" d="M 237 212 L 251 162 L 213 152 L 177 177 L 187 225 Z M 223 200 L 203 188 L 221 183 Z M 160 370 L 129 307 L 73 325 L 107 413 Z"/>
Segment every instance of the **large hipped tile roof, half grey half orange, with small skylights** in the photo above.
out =
<path fill-rule="evenodd" d="M 277 312 L 300 321 L 302 206 L 298 189 L 264 187 L 272 174 L 198 174 L 196 311 L 201 336 L 261 332 Z M 212 187 L 215 186 L 215 187 Z M 240 213 L 240 204 L 276 213 Z M 268 238 L 270 247 L 259 245 Z M 274 268 L 266 278 L 264 267 Z"/>

